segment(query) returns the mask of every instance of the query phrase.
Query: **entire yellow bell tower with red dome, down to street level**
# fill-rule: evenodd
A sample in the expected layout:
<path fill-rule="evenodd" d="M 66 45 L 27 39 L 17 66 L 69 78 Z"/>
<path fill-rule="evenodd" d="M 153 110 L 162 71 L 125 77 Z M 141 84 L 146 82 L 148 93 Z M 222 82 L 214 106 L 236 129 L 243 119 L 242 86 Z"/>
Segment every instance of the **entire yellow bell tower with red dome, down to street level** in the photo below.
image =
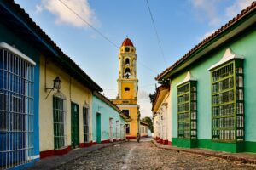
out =
<path fill-rule="evenodd" d="M 119 78 L 118 95 L 113 99 L 130 121 L 126 122 L 126 138 L 136 138 L 139 132 L 139 105 L 137 105 L 137 54 L 136 48 L 129 38 L 126 38 L 119 48 Z"/>

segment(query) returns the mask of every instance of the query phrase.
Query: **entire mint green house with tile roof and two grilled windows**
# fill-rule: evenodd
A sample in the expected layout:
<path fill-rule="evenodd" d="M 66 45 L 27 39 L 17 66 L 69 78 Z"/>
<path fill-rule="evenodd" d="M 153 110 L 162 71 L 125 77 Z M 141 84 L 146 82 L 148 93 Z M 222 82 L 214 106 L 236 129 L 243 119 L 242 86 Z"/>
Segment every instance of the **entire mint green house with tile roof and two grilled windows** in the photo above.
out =
<path fill-rule="evenodd" d="M 170 81 L 172 145 L 256 153 L 256 3 L 156 80 Z"/>

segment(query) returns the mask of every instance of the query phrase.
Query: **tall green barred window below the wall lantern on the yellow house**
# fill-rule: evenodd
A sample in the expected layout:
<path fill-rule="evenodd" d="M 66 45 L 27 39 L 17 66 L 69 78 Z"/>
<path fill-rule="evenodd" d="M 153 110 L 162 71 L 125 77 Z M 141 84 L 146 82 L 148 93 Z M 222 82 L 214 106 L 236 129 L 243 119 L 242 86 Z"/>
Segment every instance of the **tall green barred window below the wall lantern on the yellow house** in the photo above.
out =
<path fill-rule="evenodd" d="M 54 143 L 55 149 L 65 146 L 65 111 L 64 99 L 53 96 Z"/>

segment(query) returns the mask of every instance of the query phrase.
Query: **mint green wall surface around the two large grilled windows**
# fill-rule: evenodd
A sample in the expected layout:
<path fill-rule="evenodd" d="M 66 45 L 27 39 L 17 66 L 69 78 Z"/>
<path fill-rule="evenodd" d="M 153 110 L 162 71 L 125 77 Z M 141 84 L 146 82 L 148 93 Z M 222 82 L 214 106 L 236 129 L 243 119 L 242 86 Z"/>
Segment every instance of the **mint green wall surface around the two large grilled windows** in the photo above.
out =
<path fill-rule="evenodd" d="M 195 64 L 190 65 L 186 70 L 177 73 L 172 79 L 172 138 L 177 138 L 177 83 L 182 82 L 187 71 L 191 71 L 193 77 L 197 79 L 197 131 L 199 146 L 211 148 L 211 144 L 206 139 L 212 139 L 212 117 L 211 117 L 211 82 L 208 68 L 222 59 L 225 49 L 231 48 L 235 54 L 241 54 L 244 60 L 244 98 L 245 98 L 245 139 L 247 141 L 247 151 L 255 152 L 253 143 L 256 142 L 256 26 L 252 26 L 240 36 L 234 37 L 229 42 L 225 42 L 222 47 L 215 48 L 211 53 L 206 54 Z M 205 140 L 205 142 L 204 142 Z M 176 141 L 172 142 L 173 144 Z"/>

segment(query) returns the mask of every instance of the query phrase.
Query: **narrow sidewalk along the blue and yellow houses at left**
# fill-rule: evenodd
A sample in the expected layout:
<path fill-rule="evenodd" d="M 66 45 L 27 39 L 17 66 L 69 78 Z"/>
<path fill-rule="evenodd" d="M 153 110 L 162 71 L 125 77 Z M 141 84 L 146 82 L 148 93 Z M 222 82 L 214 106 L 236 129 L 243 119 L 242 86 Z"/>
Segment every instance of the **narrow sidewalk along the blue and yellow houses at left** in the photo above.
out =
<path fill-rule="evenodd" d="M 77 149 L 71 150 L 70 152 L 68 152 L 63 156 L 50 156 L 40 161 L 36 161 L 32 167 L 28 167 L 27 169 L 37 169 L 37 170 L 53 169 L 56 167 L 60 167 L 61 165 L 67 163 L 68 161 L 73 161 L 75 159 L 78 159 L 79 157 L 84 156 L 84 154 L 86 153 L 90 153 L 95 150 L 101 150 L 102 148 L 113 146 L 115 144 L 121 144 L 124 142 L 125 141 L 113 142 L 108 144 L 96 144 L 88 148 L 77 148 Z"/>

